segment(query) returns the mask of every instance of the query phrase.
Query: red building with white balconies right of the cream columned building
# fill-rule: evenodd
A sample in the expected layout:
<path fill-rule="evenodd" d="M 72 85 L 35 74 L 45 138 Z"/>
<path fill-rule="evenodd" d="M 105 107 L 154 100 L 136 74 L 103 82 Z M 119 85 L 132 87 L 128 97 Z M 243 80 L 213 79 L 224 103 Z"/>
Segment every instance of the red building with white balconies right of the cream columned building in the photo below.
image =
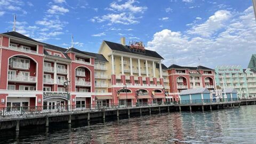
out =
<path fill-rule="evenodd" d="M 179 93 L 182 90 L 206 87 L 208 90 L 215 89 L 214 69 L 197 66 L 182 67 L 171 65 L 168 68 L 170 93 L 168 99 L 179 101 Z"/>

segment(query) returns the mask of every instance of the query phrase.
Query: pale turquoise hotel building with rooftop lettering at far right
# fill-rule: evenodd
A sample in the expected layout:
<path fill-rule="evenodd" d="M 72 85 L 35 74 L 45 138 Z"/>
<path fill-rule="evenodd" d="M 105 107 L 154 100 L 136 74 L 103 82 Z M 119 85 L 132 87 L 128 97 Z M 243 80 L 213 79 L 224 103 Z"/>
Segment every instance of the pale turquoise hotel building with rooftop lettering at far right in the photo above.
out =
<path fill-rule="evenodd" d="M 217 66 L 215 80 L 221 89 L 235 88 L 238 98 L 256 96 L 256 73 L 241 66 Z"/>

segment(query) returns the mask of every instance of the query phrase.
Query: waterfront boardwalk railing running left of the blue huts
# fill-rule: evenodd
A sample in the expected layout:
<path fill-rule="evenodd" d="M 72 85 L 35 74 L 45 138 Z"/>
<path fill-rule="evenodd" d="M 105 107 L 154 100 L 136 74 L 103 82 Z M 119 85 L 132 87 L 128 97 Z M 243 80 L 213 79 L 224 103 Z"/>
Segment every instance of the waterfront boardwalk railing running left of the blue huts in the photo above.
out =
<path fill-rule="evenodd" d="M 34 115 L 34 114 L 47 114 L 47 113 L 61 113 L 65 111 L 103 111 L 114 110 L 129 107 L 150 107 L 150 106 L 163 106 L 173 105 L 172 102 L 136 102 L 136 103 L 107 103 L 106 105 L 54 105 L 54 106 L 33 106 L 33 107 L 2 107 L 0 108 L 1 116 L 11 115 Z"/>

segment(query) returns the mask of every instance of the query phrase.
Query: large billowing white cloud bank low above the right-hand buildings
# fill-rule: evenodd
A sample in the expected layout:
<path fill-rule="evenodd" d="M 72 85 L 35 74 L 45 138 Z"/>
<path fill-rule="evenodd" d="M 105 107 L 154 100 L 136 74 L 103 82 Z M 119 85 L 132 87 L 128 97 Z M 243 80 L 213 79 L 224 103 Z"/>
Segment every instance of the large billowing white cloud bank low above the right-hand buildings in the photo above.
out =
<path fill-rule="evenodd" d="M 218 14 L 215 13 L 210 19 L 219 21 L 219 18 L 215 18 L 216 15 Z M 227 15 L 221 18 L 226 19 L 229 17 Z M 209 20 L 205 23 L 207 21 Z M 159 52 L 165 58 L 166 66 L 173 63 L 197 66 L 199 57 L 201 65 L 210 68 L 217 65 L 242 65 L 246 68 L 256 45 L 253 7 L 228 21 L 221 23 L 223 26 L 218 33 L 211 32 L 210 35 L 214 35 L 212 37 L 164 29 L 154 34 L 153 39 L 147 43 L 147 48 Z"/>

